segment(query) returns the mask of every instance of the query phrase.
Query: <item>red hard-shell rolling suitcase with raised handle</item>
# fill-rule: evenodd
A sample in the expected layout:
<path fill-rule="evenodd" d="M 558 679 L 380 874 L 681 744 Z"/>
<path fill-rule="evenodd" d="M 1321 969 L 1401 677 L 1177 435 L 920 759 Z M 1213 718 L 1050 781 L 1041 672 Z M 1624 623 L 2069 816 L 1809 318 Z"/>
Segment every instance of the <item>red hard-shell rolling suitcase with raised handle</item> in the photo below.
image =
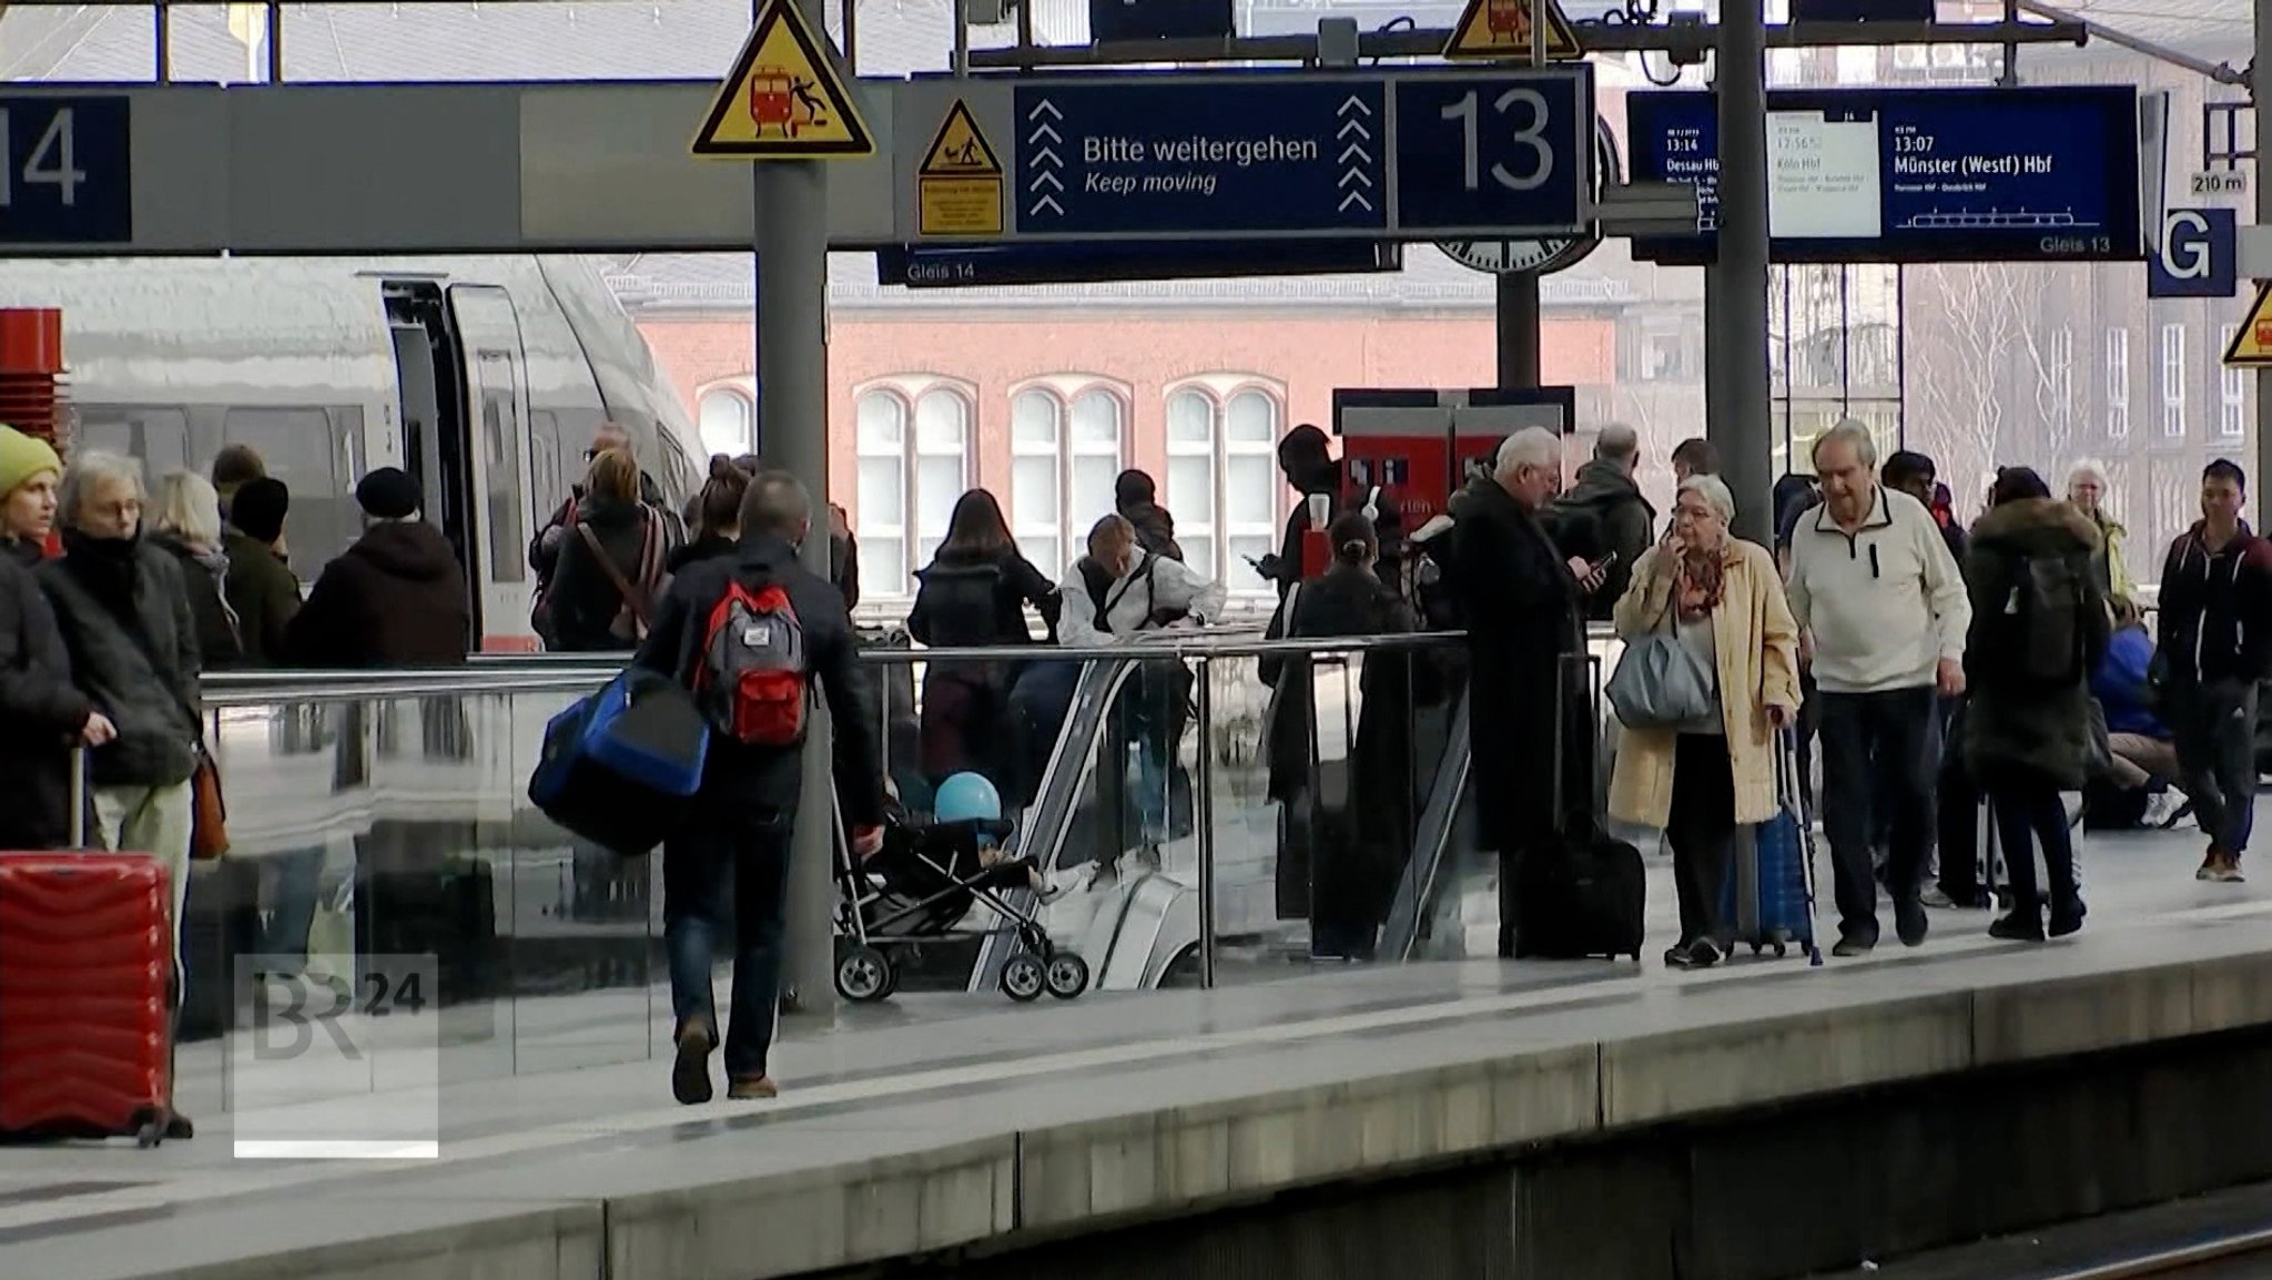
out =
<path fill-rule="evenodd" d="M 86 753 L 70 759 L 86 843 Z M 173 884 L 139 853 L 0 853 L 0 1134 L 134 1137 L 173 1119 Z"/>

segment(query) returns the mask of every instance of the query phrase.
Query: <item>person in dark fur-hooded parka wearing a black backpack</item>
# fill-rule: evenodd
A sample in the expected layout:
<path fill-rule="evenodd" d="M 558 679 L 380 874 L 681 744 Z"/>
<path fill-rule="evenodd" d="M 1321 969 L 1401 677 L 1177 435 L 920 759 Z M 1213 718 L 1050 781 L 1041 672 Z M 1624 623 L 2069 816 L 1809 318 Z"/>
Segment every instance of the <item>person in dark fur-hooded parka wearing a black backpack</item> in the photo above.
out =
<path fill-rule="evenodd" d="M 2090 673 L 2106 657 L 2106 596 L 2090 573 L 2099 530 L 2072 502 L 2052 498 L 2049 484 L 2024 466 L 1997 473 L 1988 514 L 1972 525 L 1965 582 L 1972 593 L 1972 632 L 1965 637 L 1963 716 L 1965 766 L 1988 793 L 1997 843 L 2011 875 L 2011 914 L 1988 925 L 2006 941 L 2043 941 L 2043 891 L 2036 884 L 2033 841 L 2052 875 L 2052 937 L 2083 928 L 2074 887 L 2074 846 L 2061 791 L 2079 791 L 2090 762 Z M 2040 580 L 2045 562 L 2061 562 L 2077 612 L 2072 678 L 2022 671 L 2013 659 L 2031 653 L 2022 627 L 2047 625 L 2018 607 Z M 2065 591 L 2070 587 L 2061 587 Z M 1947 855 L 1947 850 L 1943 850 Z"/>

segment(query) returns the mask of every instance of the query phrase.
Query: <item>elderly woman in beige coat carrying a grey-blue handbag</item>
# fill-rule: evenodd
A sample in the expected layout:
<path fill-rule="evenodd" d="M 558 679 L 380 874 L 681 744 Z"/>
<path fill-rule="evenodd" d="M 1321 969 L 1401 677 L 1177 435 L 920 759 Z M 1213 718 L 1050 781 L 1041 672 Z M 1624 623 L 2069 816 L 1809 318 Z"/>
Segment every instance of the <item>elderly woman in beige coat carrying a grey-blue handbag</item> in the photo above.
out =
<path fill-rule="evenodd" d="M 1663 828 L 1681 898 L 1681 941 L 1665 964 L 1718 964 L 1729 941 L 1720 900 L 1738 823 L 1774 816 L 1774 739 L 1799 714 L 1799 627 L 1768 548 L 1727 525 L 1736 500 L 1713 475 L 1681 482 L 1665 539 L 1634 564 L 1618 600 L 1620 639 L 1672 627 L 1713 673 L 1715 716 L 1624 730 L 1611 816 Z"/>

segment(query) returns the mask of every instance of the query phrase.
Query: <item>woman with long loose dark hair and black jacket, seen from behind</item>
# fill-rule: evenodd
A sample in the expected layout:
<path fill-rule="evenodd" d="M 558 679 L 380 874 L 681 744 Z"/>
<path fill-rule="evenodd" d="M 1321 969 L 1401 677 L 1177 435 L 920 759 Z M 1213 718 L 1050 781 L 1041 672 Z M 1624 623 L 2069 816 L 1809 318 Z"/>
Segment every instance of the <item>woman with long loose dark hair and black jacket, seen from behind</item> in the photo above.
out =
<path fill-rule="evenodd" d="M 932 648 L 1031 646 L 1025 607 L 1056 630 L 1056 584 L 1050 582 L 1009 534 L 1002 502 L 972 489 L 954 502 L 947 541 L 932 564 L 916 573 L 916 605 L 907 634 Z M 1022 664 L 932 662 L 922 673 L 922 775 L 936 787 L 950 773 L 975 768 L 997 789 L 1004 775 L 1009 691 Z"/>

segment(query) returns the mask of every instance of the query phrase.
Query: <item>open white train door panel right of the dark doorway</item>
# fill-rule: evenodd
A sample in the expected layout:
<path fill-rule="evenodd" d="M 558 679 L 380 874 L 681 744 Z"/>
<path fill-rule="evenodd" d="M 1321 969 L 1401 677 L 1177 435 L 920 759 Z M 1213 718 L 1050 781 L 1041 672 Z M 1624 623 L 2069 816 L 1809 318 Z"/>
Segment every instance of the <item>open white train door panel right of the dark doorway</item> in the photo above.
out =
<path fill-rule="evenodd" d="M 529 380 L 513 298 L 495 284 L 452 284 L 450 330 L 466 373 L 466 427 L 477 539 L 468 582 L 484 650 L 534 650 L 527 541 L 536 532 L 529 493 Z M 550 516 L 545 512 L 543 516 Z"/>

